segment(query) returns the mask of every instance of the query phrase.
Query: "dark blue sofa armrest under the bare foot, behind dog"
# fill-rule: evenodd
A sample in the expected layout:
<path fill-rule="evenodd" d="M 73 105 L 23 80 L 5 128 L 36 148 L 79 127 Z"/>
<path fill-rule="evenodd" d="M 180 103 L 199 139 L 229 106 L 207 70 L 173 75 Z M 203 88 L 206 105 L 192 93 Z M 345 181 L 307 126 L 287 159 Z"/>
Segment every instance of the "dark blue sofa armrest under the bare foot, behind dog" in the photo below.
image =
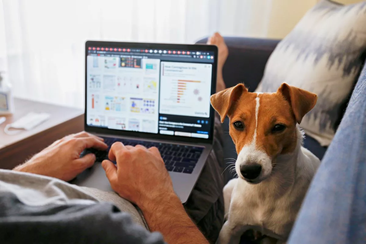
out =
<path fill-rule="evenodd" d="M 254 91 L 262 79 L 267 60 L 279 40 L 224 37 L 229 49 L 229 56 L 223 69 L 227 87 L 244 83 L 249 91 Z M 197 41 L 206 43 L 207 38 Z"/>

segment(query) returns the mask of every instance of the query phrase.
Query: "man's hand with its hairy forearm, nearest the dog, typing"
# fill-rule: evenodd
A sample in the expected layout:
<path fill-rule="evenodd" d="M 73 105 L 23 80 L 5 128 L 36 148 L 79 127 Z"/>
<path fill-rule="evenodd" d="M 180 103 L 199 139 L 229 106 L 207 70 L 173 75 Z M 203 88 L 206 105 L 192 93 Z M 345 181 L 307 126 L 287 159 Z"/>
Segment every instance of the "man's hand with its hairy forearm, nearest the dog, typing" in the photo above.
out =
<path fill-rule="evenodd" d="M 117 162 L 117 166 L 109 160 L 102 162 L 112 189 L 137 204 L 151 231 L 161 232 L 170 244 L 208 243 L 175 195 L 156 147 L 146 149 L 115 142 L 108 157 Z"/>

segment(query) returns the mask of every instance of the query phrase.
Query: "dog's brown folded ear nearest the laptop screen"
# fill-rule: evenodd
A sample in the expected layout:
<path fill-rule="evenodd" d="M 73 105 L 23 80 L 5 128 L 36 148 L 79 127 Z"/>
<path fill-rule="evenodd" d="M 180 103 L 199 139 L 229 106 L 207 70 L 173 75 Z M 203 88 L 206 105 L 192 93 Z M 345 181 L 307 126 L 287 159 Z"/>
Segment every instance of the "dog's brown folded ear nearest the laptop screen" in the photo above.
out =
<path fill-rule="evenodd" d="M 248 92 L 248 89 L 243 84 L 238 84 L 211 96 L 212 107 L 219 113 L 221 123 L 224 122 L 231 106 L 239 100 L 243 92 Z"/>

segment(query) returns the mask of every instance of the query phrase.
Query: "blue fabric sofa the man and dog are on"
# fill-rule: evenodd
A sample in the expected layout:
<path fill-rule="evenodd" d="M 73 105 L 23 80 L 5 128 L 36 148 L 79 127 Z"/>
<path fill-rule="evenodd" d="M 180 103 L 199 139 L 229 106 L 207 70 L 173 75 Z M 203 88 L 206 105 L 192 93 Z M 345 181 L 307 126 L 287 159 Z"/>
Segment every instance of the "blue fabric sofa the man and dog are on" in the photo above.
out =
<path fill-rule="evenodd" d="M 207 38 L 197 43 L 206 43 Z M 225 37 L 229 56 L 223 76 L 227 87 L 243 82 L 254 91 L 279 40 Z M 305 135 L 304 146 L 322 160 L 292 229 L 288 243 L 364 243 L 366 238 L 366 65 L 342 106 L 335 138 L 328 147 Z M 346 109 L 347 108 L 347 109 Z M 222 124 L 228 132 L 228 118 Z M 223 154 L 236 159 L 234 143 L 224 135 Z M 226 172 L 227 180 L 232 178 Z M 241 244 L 250 241 L 242 238 Z"/>

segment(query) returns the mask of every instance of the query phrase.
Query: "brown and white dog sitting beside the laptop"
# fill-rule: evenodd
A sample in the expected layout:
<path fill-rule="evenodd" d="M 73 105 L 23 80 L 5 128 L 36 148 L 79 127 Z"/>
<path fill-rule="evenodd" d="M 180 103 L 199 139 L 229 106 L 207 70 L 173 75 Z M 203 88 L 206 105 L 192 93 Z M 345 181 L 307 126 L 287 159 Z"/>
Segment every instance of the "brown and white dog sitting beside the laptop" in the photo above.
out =
<path fill-rule="evenodd" d="M 223 190 L 227 221 L 218 243 L 239 243 L 247 230 L 268 236 L 262 243 L 285 243 L 320 164 L 302 147 L 298 125 L 317 95 L 286 83 L 275 93 L 251 93 L 238 84 L 210 100 L 221 123 L 229 117 L 238 153 L 238 178 Z"/>

